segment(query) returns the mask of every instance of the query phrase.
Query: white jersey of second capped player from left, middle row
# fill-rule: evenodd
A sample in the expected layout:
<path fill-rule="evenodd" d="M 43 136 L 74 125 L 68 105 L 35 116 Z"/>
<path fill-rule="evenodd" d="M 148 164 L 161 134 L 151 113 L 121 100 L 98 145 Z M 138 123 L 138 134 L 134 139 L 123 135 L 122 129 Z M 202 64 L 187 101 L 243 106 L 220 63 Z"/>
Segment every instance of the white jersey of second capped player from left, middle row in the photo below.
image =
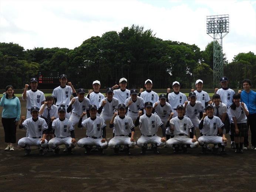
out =
<path fill-rule="evenodd" d="M 111 120 L 113 117 L 114 112 L 117 110 L 117 107 L 119 105 L 117 98 L 112 98 L 112 101 L 109 102 L 107 97 L 101 100 L 100 106 L 102 105 L 102 102 L 106 101 L 107 103 L 104 105 L 100 117 L 104 118 L 104 120 Z"/>

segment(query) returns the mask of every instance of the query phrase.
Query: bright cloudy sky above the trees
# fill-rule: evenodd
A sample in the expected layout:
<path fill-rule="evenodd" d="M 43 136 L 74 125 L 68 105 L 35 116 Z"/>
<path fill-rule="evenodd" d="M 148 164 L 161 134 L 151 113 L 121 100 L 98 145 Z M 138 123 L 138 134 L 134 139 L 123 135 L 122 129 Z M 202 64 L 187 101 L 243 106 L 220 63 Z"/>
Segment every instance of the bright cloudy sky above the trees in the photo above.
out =
<path fill-rule="evenodd" d="M 92 36 L 120 32 L 132 24 L 151 29 L 162 40 L 196 44 L 213 38 L 206 16 L 229 14 L 223 53 L 256 54 L 256 0 L 0 0 L 0 42 L 24 49 L 74 49 Z"/>

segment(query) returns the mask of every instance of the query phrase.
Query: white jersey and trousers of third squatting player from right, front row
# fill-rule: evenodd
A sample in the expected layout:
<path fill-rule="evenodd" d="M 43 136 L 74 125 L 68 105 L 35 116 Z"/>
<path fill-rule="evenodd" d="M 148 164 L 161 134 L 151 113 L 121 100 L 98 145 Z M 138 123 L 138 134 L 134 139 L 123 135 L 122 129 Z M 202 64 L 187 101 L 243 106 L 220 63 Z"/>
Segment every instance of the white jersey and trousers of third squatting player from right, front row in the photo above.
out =
<path fill-rule="evenodd" d="M 161 137 L 156 135 L 158 128 L 163 124 L 160 117 L 151 114 L 147 117 L 146 114 L 139 117 L 139 128 L 141 129 L 141 137 L 137 141 L 139 147 L 146 144 L 156 144 L 157 146 L 164 146 L 165 143 L 161 141 Z"/>

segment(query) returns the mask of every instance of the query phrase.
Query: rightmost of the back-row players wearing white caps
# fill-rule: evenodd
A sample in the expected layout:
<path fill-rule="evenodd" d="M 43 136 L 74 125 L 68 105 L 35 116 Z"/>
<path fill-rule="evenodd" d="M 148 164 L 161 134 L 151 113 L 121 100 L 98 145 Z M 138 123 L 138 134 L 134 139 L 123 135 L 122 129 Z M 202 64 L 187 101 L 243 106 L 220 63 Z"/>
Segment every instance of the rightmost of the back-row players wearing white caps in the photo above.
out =
<path fill-rule="evenodd" d="M 202 90 L 202 88 L 203 81 L 201 79 L 196 80 L 196 90 L 194 91 L 194 89 L 192 89 L 191 92 L 196 93 L 196 101 L 200 101 L 203 105 L 203 108 L 205 109 L 205 107 L 208 105 L 208 102 L 210 101 L 210 97 L 207 92 Z"/>

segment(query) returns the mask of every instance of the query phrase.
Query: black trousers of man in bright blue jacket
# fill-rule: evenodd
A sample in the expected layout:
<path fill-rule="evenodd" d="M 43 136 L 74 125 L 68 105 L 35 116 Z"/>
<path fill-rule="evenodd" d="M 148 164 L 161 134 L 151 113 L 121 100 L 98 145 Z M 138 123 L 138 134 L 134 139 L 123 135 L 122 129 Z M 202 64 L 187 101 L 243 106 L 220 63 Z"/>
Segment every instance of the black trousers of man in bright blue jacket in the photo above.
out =
<path fill-rule="evenodd" d="M 248 133 L 249 133 L 249 126 L 250 126 L 250 130 L 251 130 L 251 143 L 252 143 L 252 146 L 256 147 L 256 113 L 249 114 L 246 117 L 247 117 Z M 243 141 L 243 144 L 245 146 L 249 145 L 248 135 L 247 135 L 247 137 L 245 137 L 245 140 Z"/>

